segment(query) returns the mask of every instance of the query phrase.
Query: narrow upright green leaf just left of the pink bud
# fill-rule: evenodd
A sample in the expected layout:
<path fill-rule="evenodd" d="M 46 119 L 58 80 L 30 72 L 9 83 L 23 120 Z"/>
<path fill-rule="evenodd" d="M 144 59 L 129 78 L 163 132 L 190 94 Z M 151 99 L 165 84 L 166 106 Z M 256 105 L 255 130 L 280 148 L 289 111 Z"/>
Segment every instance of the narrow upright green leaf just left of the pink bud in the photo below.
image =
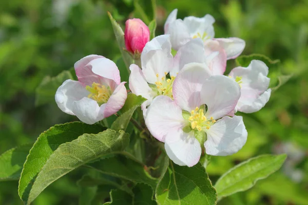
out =
<path fill-rule="evenodd" d="M 126 69 L 127 69 L 128 73 L 130 73 L 129 66 L 132 64 L 132 57 L 130 56 L 130 54 L 128 52 L 126 52 L 124 50 L 125 49 L 124 32 L 123 32 L 121 26 L 114 20 L 111 13 L 108 12 L 108 16 L 110 18 L 110 22 L 111 22 L 111 25 L 112 25 L 112 28 L 113 28 L 115 39 L 117 39 L 117 42 L 118 42 L 124 63 L 126 65 Z"/>

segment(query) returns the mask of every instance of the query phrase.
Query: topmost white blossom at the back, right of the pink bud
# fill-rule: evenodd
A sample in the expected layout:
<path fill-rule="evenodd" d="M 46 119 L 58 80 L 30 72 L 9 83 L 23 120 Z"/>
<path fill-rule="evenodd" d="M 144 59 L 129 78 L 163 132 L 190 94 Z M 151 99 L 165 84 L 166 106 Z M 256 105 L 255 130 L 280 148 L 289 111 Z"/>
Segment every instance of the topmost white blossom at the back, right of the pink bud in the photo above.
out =
<path fill-rule="evenodd" d="M 226 60 L 236 58 L 244 50 L 245 41 L 240 38 L 214 38 L 213 16 L 188 16 L 182 20 L 177 19 L 177 12 L 175 9 L 169 14 L 164 26 L 165 34 L 170 34 L 172 48 L 179 50 L 189 40 L 201 38 L 208 51 L 220 51 L 221 58 Z"/>

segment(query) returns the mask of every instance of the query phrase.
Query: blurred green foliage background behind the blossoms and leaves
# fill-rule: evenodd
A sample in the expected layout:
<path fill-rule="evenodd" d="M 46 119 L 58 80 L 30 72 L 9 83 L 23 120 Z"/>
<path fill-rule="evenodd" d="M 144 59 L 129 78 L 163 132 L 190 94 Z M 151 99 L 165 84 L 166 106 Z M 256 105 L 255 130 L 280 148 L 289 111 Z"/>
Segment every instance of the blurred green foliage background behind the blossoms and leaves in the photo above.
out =
<path fill-rule="evenodd" d="M 150 1 L 138 2 L 146 16 L 132 0 L 1 1 L 0 153 L 34 142 L 54 124 L 78 120 L 57 108 L 52 89 L 35 101 L 36 88 L 43 79 L 48 81 L 46 76 L 71 69 L 86 55 L 118 59 L 107 11 L 121 25 L 132 17 L 148 23 Z M 157 0 L 156 35 L 163 34 L 165 19 L 175 8 L 178 18 L 213 15 L 216 37 L 240 37 L 246 41 L 244 55 L 280 59 L 284 74 L 293 74 L 260 112 L 244 115 L 248 130 L 244 148 L 233 156 L 213 157 L 207 171 L 215 181 L 240 161 L 259 154 L 287 153 L 287 161 L 251 190 L 219 204 L 308 204 L 308 0 Z M 228 61 L 228 69 L 235 66 L 234 60 Z M 74 171 L 55 181 L 33 204 L 78 204 L 78 177 Z M 17 181 L 0 182 L 0 204 L 22 204 L 17 186 Z"/>

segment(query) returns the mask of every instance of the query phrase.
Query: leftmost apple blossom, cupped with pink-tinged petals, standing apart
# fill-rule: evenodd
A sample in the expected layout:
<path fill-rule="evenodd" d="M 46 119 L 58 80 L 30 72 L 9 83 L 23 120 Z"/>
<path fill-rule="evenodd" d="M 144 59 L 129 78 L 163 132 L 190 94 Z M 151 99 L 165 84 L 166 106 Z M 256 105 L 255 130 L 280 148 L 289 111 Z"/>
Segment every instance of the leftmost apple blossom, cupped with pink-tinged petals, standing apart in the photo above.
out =
<path fill-rule="evenodd" d="M 55 93 L 57 106 L 94 124 L 117 113 L 124 105 L 127 91 L 118 67 L 100 55 L 88 55 L 74 65 L 76 80 L 65 80 Z"/>

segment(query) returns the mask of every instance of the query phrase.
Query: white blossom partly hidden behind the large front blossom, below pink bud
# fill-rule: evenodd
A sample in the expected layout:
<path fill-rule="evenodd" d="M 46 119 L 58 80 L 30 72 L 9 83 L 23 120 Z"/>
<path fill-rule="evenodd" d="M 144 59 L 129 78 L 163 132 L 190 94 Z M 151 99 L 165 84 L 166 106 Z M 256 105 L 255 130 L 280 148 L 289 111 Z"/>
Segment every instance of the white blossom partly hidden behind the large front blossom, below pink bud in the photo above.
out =
<path fill-rule="evenodd" d="M 175 57 L 171 54 L 171 43 L 169 35 L 160 35 L 148 42 L 141 53 L 142 70 L 132 64 L 129 75 L 129 88 L 132 93 L 142 95 L 147 100 L 142 104 L 142 110 L 150 105 L 153 98 L 158 95 L 172 96 L 172 86 L 177 73 L 187 63 L 197 62 L 214 64 L 213 56 L 218 53 L 206 55 L 201 39 L 194 39 L 183 46 Z M 221 65 L 215 70 L 220 70 Z M 213 67 L 213 66 L 211 66 Z M 212 68 L 214 69 L 214 67 Z M 224 70 L 222 71 L 224 72 Z M 169 75 L 168 75 L 169 74 Z"/>

